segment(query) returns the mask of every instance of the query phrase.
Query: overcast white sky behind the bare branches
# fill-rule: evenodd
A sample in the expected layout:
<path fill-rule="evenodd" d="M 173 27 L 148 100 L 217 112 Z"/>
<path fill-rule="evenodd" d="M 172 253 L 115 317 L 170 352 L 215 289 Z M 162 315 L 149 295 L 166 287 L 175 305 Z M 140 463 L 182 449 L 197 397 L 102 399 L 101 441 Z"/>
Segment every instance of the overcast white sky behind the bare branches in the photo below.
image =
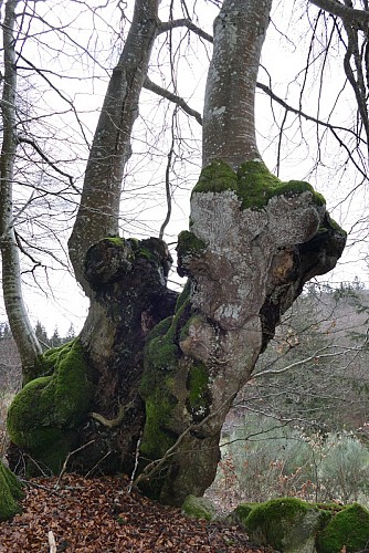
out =
<path fill-rule="evenodd" d="M 88 2 L 92 6 L 94 2 Z M 191 2 L 188 2 L 190 4 Z M 306 2 L 305 2 L 306 3 Z M 112 2 L 115 7 L 116 2 Z M 168 2 L 161 2 L 162 13 L 166 11 Z M 291 11 L 289 1 L 275 1 L 272 23 L 268 29 L 267 40 L 263 50 L 263 67 L 260 71 L 259 80 L 265 84 L 273 83 L 273 90 L 289 104 L 298 106 L 299 93 L 304 86 L 304 74 L 298 73 L 306 63 L 306 51 L 308 39 L 306 38 L 307 19 L 299 19 L 298 4 L 294 3 L 296 10 Z M 41 3 L 36 4 L 41 9 Z M 53 10 L 55 24 L 68 23 L 65 32 L 71 34 L 85 49 L 85 54 L 73 42 L 63 36 L 57 39 L 56 34 L 49 31 L 46 34 L 34 36 L 34 40 L 27 41 L 23 48 L 24 56 L 31 56 L 33 63 L 40 64 L 50 73 L 48 76 L 55 86 L 63 90 L 63 93 L 73 100 L 74 105 L 81 111 L 81 119 L 85 125 L 85 133 L 91 140 L 92 133 L 97 119 L 98 109 L 103 102 L 106 88 L 106 77 L 114 64 L 112 48 L 115 54 L 120 48 L 119 31 L 124 30 L 124 21 L 117 24 L 116 15 L 107 10 L 99 10 L 91 17 L 87 8 L 82 3 L 74 2 L 44 2 L 44 17 L 50 19 Z M 84 10 L 83 17 L 77 17 L 77 10 Z M 74 11 L 75 10 L 75 11 Z M 210 21 L 217 10 L 204 1 L 198 2 L 198 13 L 205 21 L 207 31 L 211 32 Z M 211 15 L 210 15 L 211 13 Z M 312 10 L 312 17 L 315 13 Z M 60 21 L 57 19 L 60 18 Z M 112 28 L 108 28 L 103 19 L 108 19 Z M 119 30 L 120 24 L 120 30 Z M 42 23 L 34 23 L 30 33 L 45 28 Z M 98 33 L 93 31 L 93 25 Z M 283 34 L 285 36 L 283 36 Z M 180 35 L 173 33 L 176 39 Z M 289 36 L 288 36 L 289 35 Z M 62 43 L 60 42 L 62 40 Z M 41 41 L 41 45 L 40 45 Z M 176 43 L 178 45 L 178 43 Z M 176 46 L 177 48 L 177 46 Z M 182 43 L 183 55 L 176 59 L 176 73 L 178 74 L 178 92 L 183 95 L 191 107 L 201 112 L 203 90 L 207 75 L 207 66 L 210 48 L 198 44 L 196 40 L 191 43 Z M 63 53 L 60 52 L 62 50 Z M 98 52 L 99 64 L 95 64 L 92 56 L 86 52 Z M 154 56 L 150 75 L 158 84 L 169 85 L 170 72 L 168 61 L 165 59 L 166 48 L 159 43 Z M 208 51 L 208 53 L 207 53 Z M 316 46 L 316 58 L 319 61 L 319 46 Z M 337 52 L 339 56 L 340 52 Z M 95 54 L 94 54 L 95 55 Z M 96 55 L 95 55 L 96 56 Z M 57 74 L 64 75 L 59 79 Z M 31 81 L 28 81 L 29 84 Z M 32 83 L 31 83 L 32 84 Z M 43 83 L 44 84 L 44 83 Z M 317 85 L 317 86 L 315 86 Z M 317 98 L 324 88 L 325 95 L 318 103 Z M 352 94 L 348 88 L 344 88 L 339 103 L 333 109 L 337 93 L 344 88 L 344 75 L 341 60 L 327 62 L 324 70 L 324 81 L 319 87 L 319 73 L 313 66 L 309 69 L 305 85 L 303 108 L 306 113 L 321 119 L 330 116 L 331 123 L 344 125 L 349 121 L 354 106 Z M 46 87 L 44 87 L 46 90 Z M 78 125 L 71 114 L 65 114 L 66 103 L 56 93 L 40 93 L 40 85 L 31 91 L 33 102 L 39 113 L 46 114 L 50 111 L 60 111 L 61 115 L 54 116 L 51 124 L 59 127 L 60 148 L 65 149 L 65 156 L 70 156 L 70 163 L 65 164 L 74 176 L 83 176 L 83 167 L 86 158 L 86 147 L 81 142 Z M 170 139 L 171 107 L 168 111 L 164 103 L 158 106 L 157 97 L 147 92 L 143 93 L 143 106 L 140 117 L 137 121 L 134 134 L 134 156 L 127 168 L 127 175 L 123 192 L 123 220 L 125 236 L 157 236 L 160 225 L 166 215 L 166 202 L 164 196 L 164 173 L 167 155 L 167 147 Z M 41 111 L 41 112 L 40 112 Z M 331 113 L 333 112 L 333 113 Z M 273 170 L 276 164 L 277 129 L 275 121 L 282 122 L 284 113 L 274 106 L 271 109 L 270 100 L 262 93 L 257 94 L 256 121 L 259 129 L 260 149 L 263 152 L 266 165 Z M 46 119 L 49 124 L 49 119 Z M 182 123 L 182 150 L 179 152 L 177 164 L 172 173 L 172 186 L 176 189 L 173 215 L 166 239 L 173 243 L 178 232 L 187 228 L 189 216 L 189 194 L 200 170 L 200 139 L 201 129 L 196 122 L 189 124 L 187 117 L 181 116 Z M 156 133 L 161 131 L 161 137 Z M 41 136 L 40 128 L 38 129 Z M 75 138 L 74 138 L 75 137 Z M 67 142 L 64 140 L 66 138 Z M 358 175 L 349 166 L 342 168 L 344 152 L 330 139 L 329 134 L 320 133 L 323 164 L 314 168 L 316 158 L 317 128 L 314 124 L 304 123 L 304 138 L 298 133 L 298 121 L 288 115 L 285 123 L 285 136 L 282 143 L 281 178 L 288 180 L 306 179 L 323 192 L 327 199 L 327 205 L 335 219 L 347 230 L 355 228 L 351 234 L 357 244 L 347 249 L 337 271 L 325 280 L 338 282 L 341 280 L 352 281 L 356 275 L 368 284 L 367 267 L 363 261 L 367 255 L 366 219 L 361 225 L 357 221 L 363 219 L 367 210 L 366 188 L 360 187 L 356 195 L 345 199 L 348 191 L 359 184 Z M 150 148 L 147 144 L 150 142 Z M 74 143 L 74 144 L 73 144 Z M 49 144 L 49 143 L 45 143 Z M 49 147 L 49 146 L 48 146 Z M 179 148 L 179 146 L 178 146 Z M 72 153 L 71 153 L 72 152 Z M 180 159 L 180 155 L 186 159 Z M 78 159 L 74 159 L 75 156 Z M 72 161 L 74 159 L 74 161 Z M 19 194 L 28 196 L 24 188 Z M 63 212 L 64 213 L 64 212 Z M 61 213 L 60 236 L 64 247 L 66 244 L 67 232 L 63 234 L 63 213 Z M 48 215 L 48 213 L 46 213 Z M 70 225 L 65 215 L 64 228 Z M 356 227 L 355 227 L 356 226 Z M 38 319 L 52 333 L 57 325 L 60 333 L 66 333 L 71 323 L 81 328 L 87 304 L 83 300 L 74 280 L 65 271 L 57 270 L 56 265 L 52 271 L 48 271 L 48 285 L 44 272 L 39 273 L 41 288 L 27 278 L 25 301 L 33 321 Z M 43 278 L 42 278 L 43 275 Z M 52 292 L 53 291 L 53 292 Z M 3 309 L 0 309 L 0 322 L 6 317 Z"/>

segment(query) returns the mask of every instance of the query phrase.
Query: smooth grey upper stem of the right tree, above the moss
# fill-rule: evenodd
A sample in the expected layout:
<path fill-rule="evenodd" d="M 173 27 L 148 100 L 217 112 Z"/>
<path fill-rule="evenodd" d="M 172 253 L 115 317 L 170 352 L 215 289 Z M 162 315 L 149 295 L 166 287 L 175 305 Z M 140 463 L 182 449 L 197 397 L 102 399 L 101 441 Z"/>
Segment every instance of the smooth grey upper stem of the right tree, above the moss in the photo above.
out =
<path fill-rule="evenodd" d="M 254 98 L 271 7 L 272 0 L 225 0 L 214 21 L 203 108 L 203 167 L 222 159 L 236 168 L 261 157 Z"/>

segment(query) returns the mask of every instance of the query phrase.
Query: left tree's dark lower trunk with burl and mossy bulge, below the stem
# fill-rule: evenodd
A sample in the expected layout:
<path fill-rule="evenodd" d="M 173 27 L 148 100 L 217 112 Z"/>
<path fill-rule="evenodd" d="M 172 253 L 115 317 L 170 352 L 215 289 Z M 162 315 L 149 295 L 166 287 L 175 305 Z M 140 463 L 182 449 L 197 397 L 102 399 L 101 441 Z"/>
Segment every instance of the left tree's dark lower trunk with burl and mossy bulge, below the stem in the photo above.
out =
<path fill-rule="evenodd" d="M 88 250 L 88 317 L 77 340 L 38 359 L 10 406 L 12 467 L 57 473 L 82 448 L 70 456 L 70 470 L 133 470 L 145 420 L 138 393 L 145 341 L 177 299 L 166 288 L 170 262 L 154 238 L 108 238 Z"/>

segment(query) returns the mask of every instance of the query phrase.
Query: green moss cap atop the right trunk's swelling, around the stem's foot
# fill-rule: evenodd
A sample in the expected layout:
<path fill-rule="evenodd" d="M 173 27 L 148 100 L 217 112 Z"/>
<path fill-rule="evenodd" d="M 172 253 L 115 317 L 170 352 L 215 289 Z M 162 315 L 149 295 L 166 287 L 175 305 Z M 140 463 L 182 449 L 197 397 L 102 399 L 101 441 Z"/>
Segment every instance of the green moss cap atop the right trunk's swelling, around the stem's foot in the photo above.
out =
<path fill-rule="evenodd" d="M 246 161 L 236 173 L 221 160 L 215 160 L 201 171 L 192 192 L 222 192 L 232 190 L 241 201 L 241 209 L 263 209 L 276 196 L 287 198 L 310 192 L 314 204 L 325 205 L 324 197 L 303 180 L 283 182 L 260 161 Z"/>

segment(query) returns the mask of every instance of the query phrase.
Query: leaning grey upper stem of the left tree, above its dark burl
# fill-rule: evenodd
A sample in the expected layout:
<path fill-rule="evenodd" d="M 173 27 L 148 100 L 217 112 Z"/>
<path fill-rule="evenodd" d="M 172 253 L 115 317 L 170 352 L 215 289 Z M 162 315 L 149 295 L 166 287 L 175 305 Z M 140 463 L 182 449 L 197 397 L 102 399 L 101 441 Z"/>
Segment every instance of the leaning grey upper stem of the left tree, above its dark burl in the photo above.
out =
<path fill-rule="evenodd" d="M 68 241 L 75 276 L 83 288 L 86 288 L 83 263 L 88 248 L 102 238 L 119 233 L 124 167 L 130 156 L 130 134 L 158 24 L 158 0 L 137 0 L 127 40 L 105 95 Z"/>

